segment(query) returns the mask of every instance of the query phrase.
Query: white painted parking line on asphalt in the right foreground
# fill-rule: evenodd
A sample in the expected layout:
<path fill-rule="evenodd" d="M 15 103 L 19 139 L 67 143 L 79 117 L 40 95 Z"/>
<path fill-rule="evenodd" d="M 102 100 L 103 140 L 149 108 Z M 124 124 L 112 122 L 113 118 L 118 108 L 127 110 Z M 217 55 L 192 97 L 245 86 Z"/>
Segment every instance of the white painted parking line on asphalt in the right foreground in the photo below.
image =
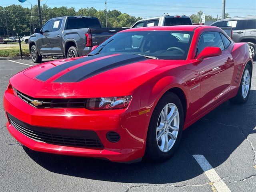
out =
<path fill-rule="evenodd" d="M 213 183 L 213 186 L 218 192 L 231 192 L 228 186 L 220 178 L 218 173 L 212 168 L 210 163 L 206 160 L 203 155 L 193 155 L 195 160 L 198 162 L 208 179 Z"/>

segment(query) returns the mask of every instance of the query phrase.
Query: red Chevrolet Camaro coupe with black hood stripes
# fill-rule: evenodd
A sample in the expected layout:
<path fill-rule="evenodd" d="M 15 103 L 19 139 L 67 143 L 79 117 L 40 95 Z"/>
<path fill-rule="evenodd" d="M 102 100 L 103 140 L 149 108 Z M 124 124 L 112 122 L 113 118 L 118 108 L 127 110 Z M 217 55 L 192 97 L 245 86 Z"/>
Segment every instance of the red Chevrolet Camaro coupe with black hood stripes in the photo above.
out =
<path fill-rule="evenodd" d="M 218 105 L 245 103 L 251 75 L 248 44 L 218 27 L 128 29 L 88 56 L 10 78 L 7 128 L 40 152 L 159 162 L 177 150 L 182 130 Z"/>

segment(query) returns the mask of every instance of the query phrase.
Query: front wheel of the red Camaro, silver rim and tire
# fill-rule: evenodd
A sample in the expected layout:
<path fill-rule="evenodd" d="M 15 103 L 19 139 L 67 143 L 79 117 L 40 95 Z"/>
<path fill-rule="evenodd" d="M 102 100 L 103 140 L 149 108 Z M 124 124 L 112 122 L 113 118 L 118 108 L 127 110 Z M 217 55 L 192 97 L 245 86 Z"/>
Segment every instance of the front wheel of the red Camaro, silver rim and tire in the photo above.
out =
<path fill-rule="evenodd" d="M 155 162 L 170 158 L 177 150 L 184 125 L 182 103 L 172 92 L 156 105 L 148 127 L 146 157 Z"/>

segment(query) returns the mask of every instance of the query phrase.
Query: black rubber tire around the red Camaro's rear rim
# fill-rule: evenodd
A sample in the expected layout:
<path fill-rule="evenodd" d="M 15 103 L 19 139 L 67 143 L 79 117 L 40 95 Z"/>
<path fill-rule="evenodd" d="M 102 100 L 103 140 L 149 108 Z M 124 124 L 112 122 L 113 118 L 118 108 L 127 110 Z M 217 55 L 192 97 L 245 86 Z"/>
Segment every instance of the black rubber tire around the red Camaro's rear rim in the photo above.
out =
<path fill-rule="evenodd" d="M 248 90 L 248 94 L 246 97 L 243 97 L 243 93 L 242 93 L 242 89 L 243 89 L 243 77 L 244 77 L 244 74 L 246 72 L 246 70 L 249 71 L 249 74 L 250 74 L 250 84 L 249 84 L 249 90 Z M 250 68 L 250 65 L 249 64 L 246 64 L 245 68 L 244 68 L 244 72 L 242 74 L 242 78 L 241 78 L 241 82 L 240 82 L 240 86 L 239 86 L 239 89 L 238 89 L 238 92 L 236 94 L 235 97 L 231 98 L 229 101 L 231 103 L 236 103 L 236 104 L 244 104 L 247 100 L 248 100 L 248 97 L 250 95 L 250 89 L 251 89 L 251 84 L 252 84 L 252 69 Z"/>

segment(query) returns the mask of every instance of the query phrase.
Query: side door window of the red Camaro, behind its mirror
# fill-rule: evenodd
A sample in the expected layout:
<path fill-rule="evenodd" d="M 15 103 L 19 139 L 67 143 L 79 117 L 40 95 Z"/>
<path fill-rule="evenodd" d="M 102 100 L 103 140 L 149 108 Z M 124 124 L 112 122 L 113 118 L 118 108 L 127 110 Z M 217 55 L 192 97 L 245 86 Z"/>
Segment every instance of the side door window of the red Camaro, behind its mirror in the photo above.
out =
<path fill-rule="evenodd" d="M 206 47 L 219 47 L 221 50 L 225 49 L 219 32 L 206 32 L 200 36 L 196 49 L 196 56 L 198 56 Z"/>

